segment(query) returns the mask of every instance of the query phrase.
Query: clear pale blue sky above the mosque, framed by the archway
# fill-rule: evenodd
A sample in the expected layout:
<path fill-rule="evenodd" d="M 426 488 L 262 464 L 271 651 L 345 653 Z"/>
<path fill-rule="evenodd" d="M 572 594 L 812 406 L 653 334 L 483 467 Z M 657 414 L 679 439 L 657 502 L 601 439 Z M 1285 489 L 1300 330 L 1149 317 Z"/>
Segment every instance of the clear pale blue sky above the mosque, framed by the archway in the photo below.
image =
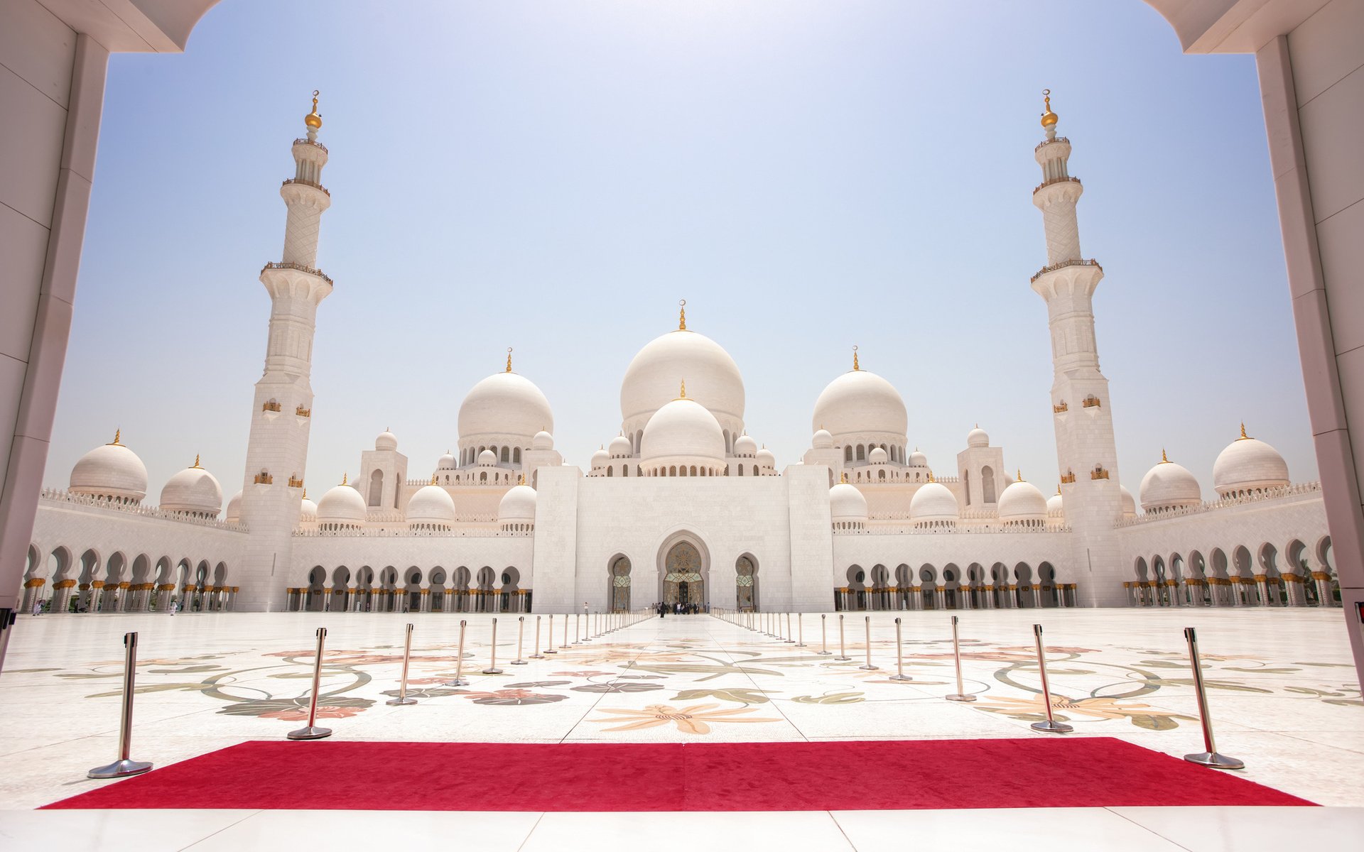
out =
<path fill-rule="evenodd" d="M 121 427 L 149 502 L 195 453 L 240 488 L 314 87 L 314 498 L 385 427 L 428 473 L 507 346 L 585 465 L 683 297 L 779 465 L 857 344 L 936 469 L 979 423 L 1050 491 L 1043 87 L 1108 274 L 1123 483 L 1165 446 L 1209 496 L 1241 419 L 1316 477 L 1254 59 L 1183 56 L 1138 0 L 224 0 L 183 56 L 110 61 L 48 484 Z"/>

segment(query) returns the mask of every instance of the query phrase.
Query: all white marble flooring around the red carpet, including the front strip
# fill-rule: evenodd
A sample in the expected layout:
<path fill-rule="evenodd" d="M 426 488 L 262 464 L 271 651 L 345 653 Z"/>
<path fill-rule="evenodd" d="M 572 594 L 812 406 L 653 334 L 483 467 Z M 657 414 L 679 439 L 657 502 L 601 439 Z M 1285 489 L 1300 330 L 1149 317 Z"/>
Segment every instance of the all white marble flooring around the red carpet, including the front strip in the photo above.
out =
<path fill-rule="evenodd" d="M 0 675 L 0 847 L 211 849 L 307 842 L 345 848 L 401 834 L 408 848 L 577 849 L 641 845 L 889 849 L 906 838 L 1019 848 L 1273 848 L 1364 827 L 1364 702 L 1341 611 L 1065 609 L 959 612 L 966 691 L 955 691 L 948 613 L 847 613 L 850 661 L 820 656 L 820 616 L 795 648 L 711 616 L 645 619 L 510 665 L 516 616 L 498 616 L 499 675 L 488 665 L 491 616 L 398 613 L 181 613 L 22 618 Z M 904 671 L 895 682 L 895 624 Z M 443 686 L 468 619 L 466 687 Z M 533 615 L 527 616 L 531 654 Z M 393 708 L 404 624 L 413 634 L 409 694 Z M 1172 755 L 1202 750 L 1181 628 L 1195 626 L 1222 752 L 1237 773 L 1331 808 L 1039 808 L 573 814 L 326 811 L 31 811 L 104 784 L 85 778 L 116 755 L 121 635 L 139 631 L 132 757 L 164 766 L 250 739 L 281 739 L 306 717 L 314 630 L 326 626 L 319 724 L 334 739 L 462 742 L 792 742 L 1048 736 L 1031 624 L 1045 628 L 1048 673 L 1069 736 L 1102 735 Z M 792 620 L 794 624 L 794 620 Z M 542 616 L 542 631 L 547 620 Z M 784 620 L 783 620 L 784 628 Z M 573 633 L 570 627 L 570 641 Z M 542 633 L 542 648 L 548 641 Z M 651 727 L 664 706 L 670 721 Z M 394 767 L 400 772 L 401 767 Z M 363 778 L 356 780 L 363 784 Z M 868 767 L 868 784 L 876 782 Z M 341 806 L 344 807 L 344 804 Z M 415 803 L 420 808 L 420 803 Z M 55 830 L 55 826 L 61 826 Z M 685 827 L 685 830 L 682 830 Z M 397 833 L 397 834 L 396 834 Z M 1102 841 L 1099 840 L 1102 838 Z M 1234 841 L 1234 842 L 1233 842 Z M 123 845 L 120 845 L 123 844 Z M 670 845 L 671 844 L 671 845 Z M 1035 845 L 1030 845 L 1035 844 Z M 712 845 L 715 845 L 712 842 Z"/>

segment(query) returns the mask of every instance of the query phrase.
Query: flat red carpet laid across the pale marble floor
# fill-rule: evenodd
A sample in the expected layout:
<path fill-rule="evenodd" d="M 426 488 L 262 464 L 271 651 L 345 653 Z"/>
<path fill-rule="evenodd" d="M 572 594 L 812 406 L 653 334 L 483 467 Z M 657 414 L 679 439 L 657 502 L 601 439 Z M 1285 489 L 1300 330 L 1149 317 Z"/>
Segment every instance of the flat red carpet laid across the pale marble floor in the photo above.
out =
<path fill-rule="evenodd" d="M 250 742 L 46 807 L 824 811 L 1140 804 L 1312 803 L 1116 739 L 1035 737 L 724 744 Z"/>

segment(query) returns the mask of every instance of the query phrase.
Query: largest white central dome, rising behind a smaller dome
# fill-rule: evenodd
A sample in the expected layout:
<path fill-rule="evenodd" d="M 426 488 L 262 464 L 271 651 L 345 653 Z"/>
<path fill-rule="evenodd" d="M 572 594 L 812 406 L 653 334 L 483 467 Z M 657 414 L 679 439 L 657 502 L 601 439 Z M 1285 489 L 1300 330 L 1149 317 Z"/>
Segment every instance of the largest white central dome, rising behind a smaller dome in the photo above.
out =
<path fill-rule="evenodd" d="M 670 331 L 640 350 L 621 383 L 621 420 L 626 431 L 644 428 L 649 417 L 678 395 L 686 382 L 687 399 L 707 408 L 734 431 L 743 421 L 743 378 L 719 344 L 696 331 Z"/>

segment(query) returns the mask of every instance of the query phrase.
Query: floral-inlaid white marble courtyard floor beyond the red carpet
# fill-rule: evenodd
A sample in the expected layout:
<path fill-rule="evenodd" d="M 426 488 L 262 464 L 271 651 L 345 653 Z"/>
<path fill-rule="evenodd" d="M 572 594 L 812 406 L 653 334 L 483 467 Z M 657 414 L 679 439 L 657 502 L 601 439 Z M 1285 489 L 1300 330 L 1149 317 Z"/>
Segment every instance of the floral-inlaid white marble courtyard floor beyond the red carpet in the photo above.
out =
<path fill-rule="evenodd" d="M 904 673 L 896 671 L 895 616 Z M 314 628 L 326 626 L 319 718 L 342 739 L 481 742 L 737 742 L 1042 736 L 1031 624 L 1045 627 L 1053 713 L 1075 735 L 1118 736 L 1181 755 L 1202 750 L 1181 628 L 1199 628 L 1218 746 L 1244 776 L 1323 804 L 1364 804 L 1364 702 L 1341 613 L 1323 611 L 1042 611 L 962 616 L 964 688 L 956 691 L 948 616 L 873 613 L 801 620 L 806 648 L 709 616 L 645 619 L 527 665 L 516 616 L 218 613 L 23 619 L 0 676 L 0 807 L 34 807 L 98 784 L 112 759 L 121 634 L 139 631 L 134 757 L 158 765 L 247 739 L 282 737 L 307 716 Z M 462 673 L 450 687 L 460 618 Z M 522 656 L 533 653 L 528 616 Z M 393 708 L 406 622 L 416 624 L 408 694 Z M 782 628 L 784 630 L 784 620 Z M 792 626 L 795 622 L 792 622 Z M 542 648 L 547 639 L 542 620 Z M 570 638 L 572 638 L 570 628 Z M 584 631 L 585 633 L 585 631 Z M 854 642 L 854 637 L 857 641 Z M 1073 735 L 1072 735 L 1073 736 Z M 1339 770 L 1339 772 L 1335 772 Z M 1330 778 L 1323 782 L 1322 778 Z"/>

